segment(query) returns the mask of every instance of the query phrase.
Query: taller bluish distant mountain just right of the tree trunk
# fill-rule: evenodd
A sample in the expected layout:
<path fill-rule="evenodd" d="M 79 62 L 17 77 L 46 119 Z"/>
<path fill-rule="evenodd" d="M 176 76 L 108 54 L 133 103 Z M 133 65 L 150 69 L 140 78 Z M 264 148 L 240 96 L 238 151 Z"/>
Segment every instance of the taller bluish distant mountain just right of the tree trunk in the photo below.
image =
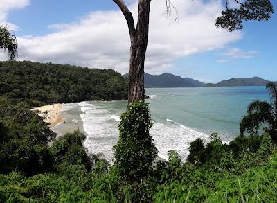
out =
<path fill-rule="evenodd" d="M 123 75 L 127 78 L 129 73 Z M 144 73 L 145 87 L 205 87 L 204 82 L 192 78 L 181 78 L 170 73 L 163 73 L 159 76 Z"/>

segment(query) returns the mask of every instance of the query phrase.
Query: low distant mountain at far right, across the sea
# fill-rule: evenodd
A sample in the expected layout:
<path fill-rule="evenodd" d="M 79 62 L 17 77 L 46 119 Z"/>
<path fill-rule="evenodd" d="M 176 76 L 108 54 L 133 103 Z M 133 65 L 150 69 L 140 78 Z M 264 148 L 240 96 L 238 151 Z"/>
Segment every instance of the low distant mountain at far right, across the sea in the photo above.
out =
<path fill-rule="evenodd" d="M 235 86 L 265 86 L 268 80 L 253 77 L 253 78 L 231 78 L 229 80 L 222 80 L 216 84 L 208 83 L 206 87 L 235 87 Z"/>

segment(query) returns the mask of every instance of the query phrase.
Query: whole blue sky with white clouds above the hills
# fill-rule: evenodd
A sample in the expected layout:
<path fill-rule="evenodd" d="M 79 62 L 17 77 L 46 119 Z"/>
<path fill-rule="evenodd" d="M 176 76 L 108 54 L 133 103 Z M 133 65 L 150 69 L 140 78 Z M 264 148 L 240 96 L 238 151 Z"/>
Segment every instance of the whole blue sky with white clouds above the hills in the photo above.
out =
<path fill-rule="evenodd" d="M 233 1 L 233 0 L 229 0 Z M 136 21 L 138 1 L 125 0 Z M 244 22 L 243 30 L 215 28 L 221 0 L 153 0 L 145 72 L 203 82 L 259 76 L 277 80 L 277 14 Z M 277 1 L 273 0 L 277 12 Z M 17 36 L 17 60 L 129 71 L 127 23 L 112 0 L 1 0 L 0 24 Z M 6 60 L 0 52 L 0 60 Z"/>

